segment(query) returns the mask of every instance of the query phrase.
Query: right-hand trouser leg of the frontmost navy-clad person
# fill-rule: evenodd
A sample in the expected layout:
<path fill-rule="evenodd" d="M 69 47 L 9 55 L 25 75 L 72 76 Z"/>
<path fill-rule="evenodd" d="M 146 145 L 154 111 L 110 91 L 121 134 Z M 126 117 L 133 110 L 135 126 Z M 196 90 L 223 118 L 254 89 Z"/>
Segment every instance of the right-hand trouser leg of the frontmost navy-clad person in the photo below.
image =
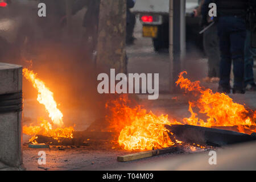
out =
<path fill-rule="evenodd" d="M 243 92 L 244 83 L 244 50 L 246 26 L 242 18 L 233 18 L 232 32 L 230 34 L 230 46 L 233 59 L 234 85 L 233 93 Z M 241 91 L 241 92 L 240 92 Z"/>

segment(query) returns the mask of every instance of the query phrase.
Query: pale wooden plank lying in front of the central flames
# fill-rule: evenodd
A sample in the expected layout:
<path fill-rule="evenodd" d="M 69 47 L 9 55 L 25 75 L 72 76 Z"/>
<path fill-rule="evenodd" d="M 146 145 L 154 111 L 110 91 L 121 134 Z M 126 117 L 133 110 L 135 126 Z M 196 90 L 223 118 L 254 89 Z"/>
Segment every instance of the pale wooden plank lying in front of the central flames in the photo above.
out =
<path fill-rule="evenodd" d="M 168 148 L 161 148 L 158 150 L 137 152 L 135 154 L 127 154 L 127 155 L 123 155 L 123 156 L 118 156 L 117 161 L 118 162 L 127 162 L 127 161 L 131 161 L 131 160 L 150 158 L 151 156 L 176 152 L 177 150 L 178 150 L 178 148 L 176 146 L 173 146 L 173 147 L 168 147 Z"/>

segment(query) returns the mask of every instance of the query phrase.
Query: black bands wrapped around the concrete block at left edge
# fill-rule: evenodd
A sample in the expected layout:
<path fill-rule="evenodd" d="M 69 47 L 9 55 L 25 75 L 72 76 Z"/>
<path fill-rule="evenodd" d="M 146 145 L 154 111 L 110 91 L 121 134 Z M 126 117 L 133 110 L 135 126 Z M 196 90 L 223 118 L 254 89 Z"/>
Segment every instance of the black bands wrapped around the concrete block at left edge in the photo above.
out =
<path fill-rule="evenodd" d="M 0 94 L 0 113 L 21 111 L 22 92 Z"/>

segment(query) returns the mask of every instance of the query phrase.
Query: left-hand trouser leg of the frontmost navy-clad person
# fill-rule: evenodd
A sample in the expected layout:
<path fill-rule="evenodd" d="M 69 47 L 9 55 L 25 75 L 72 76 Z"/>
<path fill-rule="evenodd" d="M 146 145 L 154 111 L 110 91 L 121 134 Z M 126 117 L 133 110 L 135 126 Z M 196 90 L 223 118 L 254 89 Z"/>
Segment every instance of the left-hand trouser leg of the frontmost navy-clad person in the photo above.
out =
<path fill-rule="evenodd" d="M 220 41 L 220 92 L 230 92 L 230 71 L 231 71 L 231 53 L 230 53 L 230 38 L 225 18 L 219 18 L 218 21 L 218 36 Z"/>

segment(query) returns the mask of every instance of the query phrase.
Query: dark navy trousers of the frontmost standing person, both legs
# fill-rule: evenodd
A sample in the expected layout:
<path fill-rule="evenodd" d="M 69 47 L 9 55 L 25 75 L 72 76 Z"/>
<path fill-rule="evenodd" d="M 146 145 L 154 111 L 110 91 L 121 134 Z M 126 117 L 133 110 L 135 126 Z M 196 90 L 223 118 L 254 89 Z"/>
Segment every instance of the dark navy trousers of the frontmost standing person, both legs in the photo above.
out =
<path fill-rule="evenodd" d="M 243 89 L 244 48 L 246 37 L 245 19 L 237 16 L 218 18 L 218 36 L 220 38 L 220 83 L 230 88 L 230 71 L 233 60 L 234 89 Z"/>

